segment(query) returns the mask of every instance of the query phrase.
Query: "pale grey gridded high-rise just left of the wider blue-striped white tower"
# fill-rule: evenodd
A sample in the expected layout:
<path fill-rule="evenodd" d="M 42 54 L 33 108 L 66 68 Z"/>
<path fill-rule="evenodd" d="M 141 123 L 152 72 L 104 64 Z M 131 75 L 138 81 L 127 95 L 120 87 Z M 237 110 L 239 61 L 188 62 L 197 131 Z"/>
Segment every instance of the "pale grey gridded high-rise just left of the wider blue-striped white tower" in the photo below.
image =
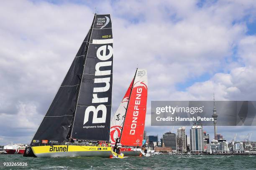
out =
<path fill-rule="evenodd" d="M 187 152 L 185 127 L 179 128 L 177 130 L 177 152 L 179 153 Z"/>

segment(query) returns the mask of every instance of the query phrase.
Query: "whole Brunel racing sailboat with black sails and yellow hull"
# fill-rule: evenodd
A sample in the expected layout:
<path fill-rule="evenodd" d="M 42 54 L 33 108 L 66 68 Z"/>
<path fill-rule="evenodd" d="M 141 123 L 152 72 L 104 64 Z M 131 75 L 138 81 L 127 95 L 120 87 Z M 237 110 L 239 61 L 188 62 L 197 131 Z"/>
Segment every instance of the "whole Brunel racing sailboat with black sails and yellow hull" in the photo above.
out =
<path fill-rule="evenodd" d="M 108 145 L 112 107 L 110 15 L 95 14 L 25 157 L 123 158 Z"/>

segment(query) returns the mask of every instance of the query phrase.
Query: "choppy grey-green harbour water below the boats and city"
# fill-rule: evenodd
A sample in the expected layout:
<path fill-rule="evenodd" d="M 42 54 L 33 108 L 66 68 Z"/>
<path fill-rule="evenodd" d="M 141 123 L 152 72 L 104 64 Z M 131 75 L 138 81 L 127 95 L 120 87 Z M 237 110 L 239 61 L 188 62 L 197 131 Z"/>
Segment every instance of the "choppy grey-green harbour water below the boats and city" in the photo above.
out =
<path fill-rule="evenodd" d="M 26 167 L 4 167 L 4 162 L 23 162 Z M 0 170 L 256 170 L 256 156 L 248 155 L 154 155 L 150 157 L 31 158 L 0 155 Z"/>

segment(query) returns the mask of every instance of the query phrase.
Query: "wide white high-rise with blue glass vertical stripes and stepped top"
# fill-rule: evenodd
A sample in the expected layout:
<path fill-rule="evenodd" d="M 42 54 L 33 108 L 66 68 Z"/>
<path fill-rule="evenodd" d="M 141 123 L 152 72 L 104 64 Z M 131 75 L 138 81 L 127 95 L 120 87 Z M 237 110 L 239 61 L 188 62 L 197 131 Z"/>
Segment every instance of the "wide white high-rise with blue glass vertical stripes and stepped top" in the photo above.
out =
<path fill-rule="evenodd" d="M 202 124 L 195 123 L 190 129 L 190 152 L 200 153 L 204 151 L 204 130 Z"/>

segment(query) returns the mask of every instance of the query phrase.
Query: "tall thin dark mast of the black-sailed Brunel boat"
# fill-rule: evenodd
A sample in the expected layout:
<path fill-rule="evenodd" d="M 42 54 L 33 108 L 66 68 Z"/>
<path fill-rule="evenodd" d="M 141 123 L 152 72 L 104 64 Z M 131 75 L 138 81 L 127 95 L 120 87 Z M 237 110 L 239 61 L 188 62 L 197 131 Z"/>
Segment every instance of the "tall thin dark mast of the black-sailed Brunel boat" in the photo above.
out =
<path fill-rule="evenodd" d="M 83 76 L 83 72 L 84 72 L 84 66 L 85 66 L 85 61 L 86 61 L 86 57 L 87 57 L 87 52 L 88 52 L 88 48 L 89 48 L 89 45 L 90 45 L 90 41 L 91 41 L 91 36 L 92 36 L 92 28 L 93 28 L 93 25 L 94 25 L 94 22 L 95 22 L 95 18 L 96 18 L 96 11 L 95 11 L 95 14 L 94 14 L 94 17 L 93 17 L 93 20 L 92 20 L 92 25 L 91 25 L 91 28 L 90 28 L 90 32 L 89 32 L 89 40 L 88 40 L 88 46 L 87 46 L 87 49 L 86 49 L 86 52 L 84 54 L 84 62 L 83 62 L 83 68 L 82 68 L 82 72 L 81 72 L 81 77 L 79 77 L 80 79 L 80 82 L 79 82 L 79 86 L 78 86 L 78 90 L 80 92 L 80 87 L 81 87 L 81 83 L 82 83 L 82 76 Z M 74 116 L 72 117 L 72 122 L 69 126 L 69 134 L 67 135 L 67 137 L 69 137 L 69 140 L 71 139 L 71 132 L 72 132 L 72 128 L 73 128 L 73 124 L 74 124 L 74 117 L 75 117 L 75 113 L 76 113 L 76 109 L 77 109 L 77 101 L 78 101 L 78 97 L 79 97 L 79 92 L 78 92 L 78 95 L 77 95 L 77 98 L 76 98 L 76 102 L 75 102 L 75 105 L 74 105 L 74 111 L 73 111 L 73 114 Z"/>

